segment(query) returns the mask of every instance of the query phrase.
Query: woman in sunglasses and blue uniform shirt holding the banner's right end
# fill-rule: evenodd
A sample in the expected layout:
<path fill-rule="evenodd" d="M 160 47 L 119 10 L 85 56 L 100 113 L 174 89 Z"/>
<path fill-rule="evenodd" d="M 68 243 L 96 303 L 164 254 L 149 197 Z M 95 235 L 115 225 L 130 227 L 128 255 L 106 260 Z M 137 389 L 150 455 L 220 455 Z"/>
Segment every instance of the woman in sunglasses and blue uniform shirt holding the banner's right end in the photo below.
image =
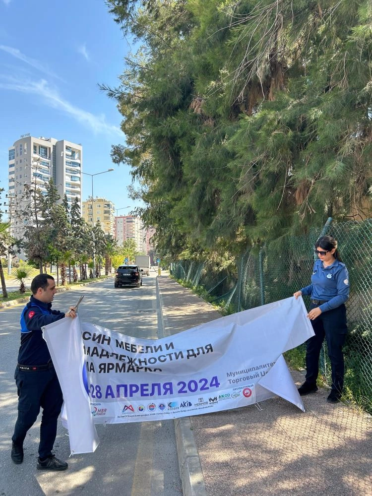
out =
<path fill-rule="evenodd" d="M 344 355 L 342 346 L 347 334 L 345 302 L 349 298 L 349 273 L 337 250 L 337 241 L 322 236 L 315 243 L 318 259 L 314 263 L 311 284 L 294 293 L 297 299 L 311 295 L 310 318 L 315 336 L 306 342 L 306 380 L 299 387 L 301 395 L 317 391 L 319 356 L 324 337 L 332 369 L 329 403 L 337 403 L 344 386 Z"/>

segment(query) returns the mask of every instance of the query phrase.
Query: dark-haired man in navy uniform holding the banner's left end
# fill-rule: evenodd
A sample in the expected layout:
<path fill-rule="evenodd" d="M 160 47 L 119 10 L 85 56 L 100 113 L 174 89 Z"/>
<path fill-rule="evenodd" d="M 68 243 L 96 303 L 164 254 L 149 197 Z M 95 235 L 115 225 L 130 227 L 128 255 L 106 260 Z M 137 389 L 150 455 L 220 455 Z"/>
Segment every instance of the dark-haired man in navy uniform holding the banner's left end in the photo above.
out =
<path fill-rule="evenodd" d="M 52 454 L 57 436 L 57 419 L 63 398 L 51 355 L 41 328 L 64 317 L 76 317 L 74 307 L 66 313 L 51 310 L 57 293 L 54 278 L 37 275 L 31 283 L 32 296 L 21 314 L 21 346 L 14 378 L 18 392 L 18 418 L 12 436 L 11 459 L 23 461 L 23 441 L 43 409 L 40 426 L 39 470 L 66 470 L 67 463 Z"/>

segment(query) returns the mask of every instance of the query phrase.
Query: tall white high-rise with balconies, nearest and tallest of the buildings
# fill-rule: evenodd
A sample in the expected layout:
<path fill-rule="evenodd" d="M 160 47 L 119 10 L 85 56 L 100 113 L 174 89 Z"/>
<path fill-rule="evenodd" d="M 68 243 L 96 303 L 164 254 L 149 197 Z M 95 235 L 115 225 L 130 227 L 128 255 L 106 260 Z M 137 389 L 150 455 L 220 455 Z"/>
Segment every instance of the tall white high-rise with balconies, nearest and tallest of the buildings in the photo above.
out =
<path fill-rule="evenodd" d="M 81 206 L 82 146 L 65 139 L 22 135 L 9 149 L 8 215 L 11 234 L 20 239 L 24 226 L 33 222 L 21 211 L 30 211 L 25 199 L 26 185 L 46 192 L 45 183 L 53 179 L 61 200 L 71 205 L 75 197 Z"/>

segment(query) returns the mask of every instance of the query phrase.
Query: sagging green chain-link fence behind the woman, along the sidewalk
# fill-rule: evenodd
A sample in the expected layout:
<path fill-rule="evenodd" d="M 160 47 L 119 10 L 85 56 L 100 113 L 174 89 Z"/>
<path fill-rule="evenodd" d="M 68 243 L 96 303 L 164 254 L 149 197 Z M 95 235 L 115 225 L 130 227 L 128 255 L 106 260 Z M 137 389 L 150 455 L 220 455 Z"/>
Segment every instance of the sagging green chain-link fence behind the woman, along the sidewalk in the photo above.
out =
<path fill-rule="evenodd" d="M 283 237 L 251 248 L 233 268 L 219 269 L 207 260 L 184 260 L 171 264 L 171 274 L 189 286 L 203 287 L 211 301 L 223 304 L 231 313 L 248 310 L 288 298 L 310 284 L 314 244 L 324 234 L 337 240 L 350 275 L 345 391 L 372 413 L 372 219 L 340 223 L 328 219 L 323 229 L 313 228 L 306 236 Z M 308 307 L 309 297 L 304 301 Z M 305 367 L 305 346 L 297 351 Z M 330 385 L 326 350 L 321 354 L 320 371 Z"/>

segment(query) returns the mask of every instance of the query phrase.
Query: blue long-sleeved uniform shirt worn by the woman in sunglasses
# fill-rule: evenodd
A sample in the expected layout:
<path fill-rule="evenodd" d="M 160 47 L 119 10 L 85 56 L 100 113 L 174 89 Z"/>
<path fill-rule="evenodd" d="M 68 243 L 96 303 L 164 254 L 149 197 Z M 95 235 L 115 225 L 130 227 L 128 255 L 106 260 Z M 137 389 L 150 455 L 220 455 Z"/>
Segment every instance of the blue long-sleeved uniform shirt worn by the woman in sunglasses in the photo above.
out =
<path fill-rule="evenodd" d="M 349 272 L 339 260 L 328 267 L 323 267 L 321 260 L 315 260 L 311 284 L 301 289 L 303 295 L 311 295 L 314 300 L 327 302 L 319 305 L 321 311 L 332 310 L 345 303 L 349 298 L 349 291 Z"/>

